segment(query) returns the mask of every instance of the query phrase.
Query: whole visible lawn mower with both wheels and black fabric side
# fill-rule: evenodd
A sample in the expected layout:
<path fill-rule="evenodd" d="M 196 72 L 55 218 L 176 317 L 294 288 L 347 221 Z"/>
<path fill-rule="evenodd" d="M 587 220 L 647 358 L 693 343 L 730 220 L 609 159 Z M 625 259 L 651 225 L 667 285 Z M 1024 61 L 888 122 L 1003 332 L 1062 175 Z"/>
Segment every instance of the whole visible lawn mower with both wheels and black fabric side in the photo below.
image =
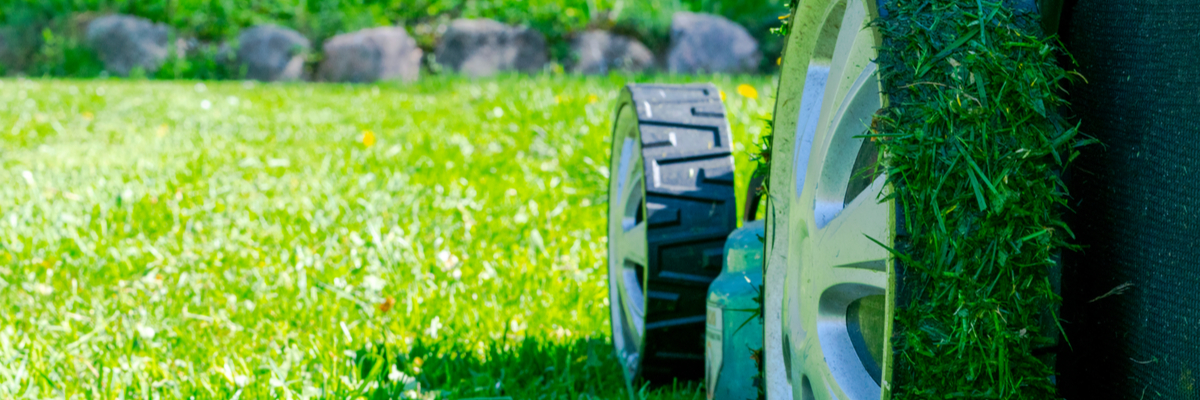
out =
<path fill-rule="evenodd" d="M 631 394 L 1200 399 L 1200 4 L 791 8 L 740 227 L 716 88 L 620 94 L 608 288 Z"/>

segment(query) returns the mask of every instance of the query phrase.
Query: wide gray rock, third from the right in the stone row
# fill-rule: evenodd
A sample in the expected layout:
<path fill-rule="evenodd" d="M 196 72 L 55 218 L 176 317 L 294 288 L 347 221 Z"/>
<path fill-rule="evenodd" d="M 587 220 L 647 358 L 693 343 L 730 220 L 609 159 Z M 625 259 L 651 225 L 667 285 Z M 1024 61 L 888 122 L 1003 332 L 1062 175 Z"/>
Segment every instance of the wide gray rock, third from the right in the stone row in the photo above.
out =
<path fill-rule="evenodd" d="M 469 77 L 502 71 L 536 72 L 548 58 L 546 37 L 540 32 L 491 19 L 450 22 L 434 54 L 438 64 Z"/>

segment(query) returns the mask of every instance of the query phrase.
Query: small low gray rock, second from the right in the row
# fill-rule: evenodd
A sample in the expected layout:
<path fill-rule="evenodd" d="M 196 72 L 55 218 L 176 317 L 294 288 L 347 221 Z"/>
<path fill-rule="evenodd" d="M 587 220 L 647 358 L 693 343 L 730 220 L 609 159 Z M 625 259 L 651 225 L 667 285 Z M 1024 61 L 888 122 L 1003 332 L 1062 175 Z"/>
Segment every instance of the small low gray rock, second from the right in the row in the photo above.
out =
<path fill-rule="evenodd" d="M 589 30 L 571 41 L 571 71 L 604 74 L 611 70 L 640 72 L 654 64 L 654 53 L 636 38 Z"/>

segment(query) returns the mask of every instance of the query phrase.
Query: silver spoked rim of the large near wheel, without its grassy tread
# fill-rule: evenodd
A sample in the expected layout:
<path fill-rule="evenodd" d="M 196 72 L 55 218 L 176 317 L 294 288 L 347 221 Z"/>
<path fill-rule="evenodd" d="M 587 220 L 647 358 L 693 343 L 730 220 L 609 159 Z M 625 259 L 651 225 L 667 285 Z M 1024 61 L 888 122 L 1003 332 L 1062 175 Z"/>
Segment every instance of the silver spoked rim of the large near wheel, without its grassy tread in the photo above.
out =
<path fill-rule="evenodd" d="M 768 393 L 880 399 L 893 275 L 880 244 L 893 245 L 895 207 L 876 201 L 887 195 L 886 177 L 864 167 L 877 150 L 856 138 L 883 106 L 871 61 L 881 40 L 869 25 L 878 13 L 875 1 L 808 5 L 792 16 L 775 109 L 770 187 L 787 190 L 772 191 L 769 214 L 767 280 L 781 283 L 767 286 L 767 315 L 780 318 L 766 327 L 776 342 L 768 346 L 776 352 L 767 354 Z"/>

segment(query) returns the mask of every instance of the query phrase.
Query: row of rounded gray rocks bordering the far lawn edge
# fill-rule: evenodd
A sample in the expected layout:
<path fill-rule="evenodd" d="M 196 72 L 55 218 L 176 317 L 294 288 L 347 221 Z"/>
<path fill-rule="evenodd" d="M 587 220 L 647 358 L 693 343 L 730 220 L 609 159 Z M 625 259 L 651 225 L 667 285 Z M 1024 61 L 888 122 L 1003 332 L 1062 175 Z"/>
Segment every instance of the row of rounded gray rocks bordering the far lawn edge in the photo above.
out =
<path fill-rule="evenodd" d="M 302 34 L 278 25 L 254 25 L 220 44 L 176 37 L 164 24 L 127 14 L 88 18 L 79 28 L 85 31 L 80 42 L 96 55 L 106 73 L 121 77 L 155 76 L 163 68 L 173 71 L 174 64 L 197 61 L 217 68 L 210 73 L 214 78 L 236 76 L 263 82 L 415 82 L 422 64 L 426 73 L 467 77 L 554 70 L 578 74 L 752 73 L 758 71 L 761 59 L 757 41 L 744 26 L 725 17 L 690 12 L 676 13 L 670 43 L 658 52 L 613 30 L 592 28 L 553 37 L 551 43 L 534 28 L 482 18 L 446 23 L 433 52 L 422 49 L 403 26 L 336 35 L 320 43 L 319 53 Z M 20 52 L 19 43 L 5 31 L 0 26 L 0 72 L 26 70 L 29 55 L 36 52 Z M 568 54 L 552 58 L 550 49 L 562 47 Z"/>

